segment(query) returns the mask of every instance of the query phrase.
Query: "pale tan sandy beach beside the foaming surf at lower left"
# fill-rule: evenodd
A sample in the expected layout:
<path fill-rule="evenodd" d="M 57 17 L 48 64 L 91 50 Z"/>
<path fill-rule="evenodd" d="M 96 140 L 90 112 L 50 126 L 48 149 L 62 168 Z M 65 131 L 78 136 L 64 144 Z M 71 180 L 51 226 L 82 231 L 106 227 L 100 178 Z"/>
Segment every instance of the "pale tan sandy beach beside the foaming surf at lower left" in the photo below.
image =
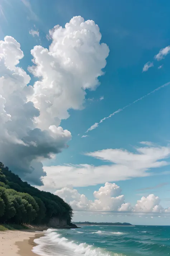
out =
<path fill-rule="evenodd" d="M 34 239 L 43 236 L 42 232 L 8 230 L 0 232 L 0 255 L 35 256 L 32 247 Z"/>

